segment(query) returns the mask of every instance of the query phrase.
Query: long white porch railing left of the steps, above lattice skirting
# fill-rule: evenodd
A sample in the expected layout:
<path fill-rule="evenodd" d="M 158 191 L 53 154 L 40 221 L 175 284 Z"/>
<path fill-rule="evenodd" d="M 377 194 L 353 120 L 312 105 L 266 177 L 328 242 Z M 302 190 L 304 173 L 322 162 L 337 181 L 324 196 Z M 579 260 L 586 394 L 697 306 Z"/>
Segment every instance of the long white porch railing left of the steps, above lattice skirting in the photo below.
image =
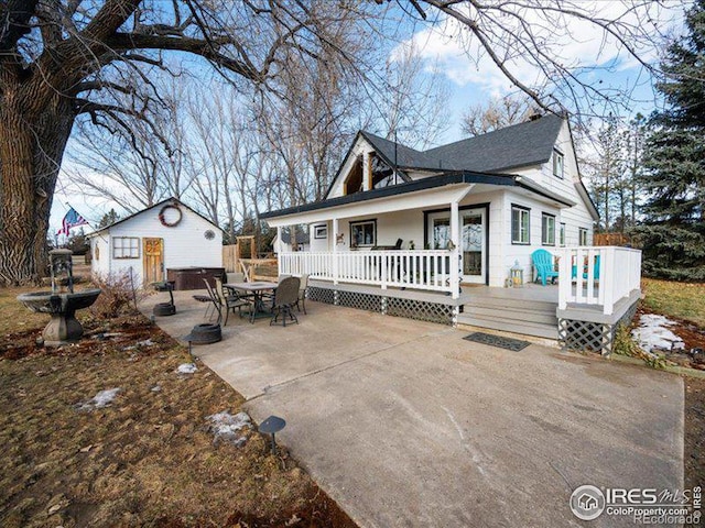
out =
<path fill-rule="evenodd" d="M 391 286 L 451 292 L 453 254 L 441 250 L 299 251 L 280 253 L 279 274 L 308 274 L 312 278 L 336 284 L 367 284 L 382 289 Z"/>

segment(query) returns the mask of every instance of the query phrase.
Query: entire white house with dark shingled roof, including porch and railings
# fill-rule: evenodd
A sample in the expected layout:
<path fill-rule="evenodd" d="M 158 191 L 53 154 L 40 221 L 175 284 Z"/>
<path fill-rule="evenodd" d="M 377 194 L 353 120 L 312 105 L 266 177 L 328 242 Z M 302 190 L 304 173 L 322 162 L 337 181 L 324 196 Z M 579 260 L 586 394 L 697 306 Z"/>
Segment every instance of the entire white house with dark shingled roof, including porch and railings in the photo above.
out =
<path fill-rule="evenodd" d="M 310 226 L 310 251 L 280 253 L 281 274 L 308 274 L 319 300 L 384 314 L 553 339 L 587 321 L 609 327 L 600 336 L 640 287 L 639 252 L 590 246 L 598 213 L 554 114 L 423 152 L 361 131 L 322 201 L 261 218 L 280 233 Z M 505 289 L 512 274 L 534 278 L 538 250 L 558 284 Z"/>

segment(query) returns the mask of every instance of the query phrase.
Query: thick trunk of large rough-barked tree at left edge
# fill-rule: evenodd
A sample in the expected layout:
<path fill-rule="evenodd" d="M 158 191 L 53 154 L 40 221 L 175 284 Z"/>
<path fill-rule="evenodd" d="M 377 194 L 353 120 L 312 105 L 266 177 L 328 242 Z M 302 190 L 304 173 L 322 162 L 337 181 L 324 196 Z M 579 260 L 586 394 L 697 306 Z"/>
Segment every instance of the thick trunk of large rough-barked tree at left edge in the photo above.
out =
<path fill-rule="evenodd" d="M 46 273 L 52 198 L 75 119 L 70 101 L 57 94 L 28 113 L 28 95 L 19 91 L 8 90 L 0 100 L 0 283 L 6 285 L 36 282 Z"/>

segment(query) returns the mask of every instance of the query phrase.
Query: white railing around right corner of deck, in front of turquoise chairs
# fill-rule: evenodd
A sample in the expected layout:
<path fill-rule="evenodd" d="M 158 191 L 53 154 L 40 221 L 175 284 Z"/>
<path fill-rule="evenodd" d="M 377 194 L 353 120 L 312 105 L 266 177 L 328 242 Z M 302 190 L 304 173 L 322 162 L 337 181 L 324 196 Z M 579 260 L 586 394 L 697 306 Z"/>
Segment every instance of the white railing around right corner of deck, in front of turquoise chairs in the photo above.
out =
<path fill-rule="evenodd" d="M 615 305 L 640 289 L 641 251 L 629 248 L 563 248 L 558 251 L 558 309 L 597 305 L 609 316 Z"/>

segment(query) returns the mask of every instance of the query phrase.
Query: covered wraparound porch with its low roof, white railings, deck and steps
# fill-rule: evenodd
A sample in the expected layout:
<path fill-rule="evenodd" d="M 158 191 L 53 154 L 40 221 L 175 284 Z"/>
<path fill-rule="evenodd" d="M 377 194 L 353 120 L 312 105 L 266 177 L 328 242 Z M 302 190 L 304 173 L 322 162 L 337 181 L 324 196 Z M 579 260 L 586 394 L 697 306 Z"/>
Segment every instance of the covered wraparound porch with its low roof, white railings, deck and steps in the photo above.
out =
<path fill-rule="evenodd" d="M 534 222 L 571 206 L 545 189 L 487 178 L 440 176 L 268 213 L 280 235 L 310 227 L 310 251 L 280 253 L 279 274 L 308 275 L 313 300 L 564 343 L 588 336 L 587 345 L 604 351 L 639 298 L 641 253 L 558 246 L 557 238 L 514 244 L 516 201 L 534 205 Z M 530 285 L 538 249 L 552 255 L 555 284 Z"/>

